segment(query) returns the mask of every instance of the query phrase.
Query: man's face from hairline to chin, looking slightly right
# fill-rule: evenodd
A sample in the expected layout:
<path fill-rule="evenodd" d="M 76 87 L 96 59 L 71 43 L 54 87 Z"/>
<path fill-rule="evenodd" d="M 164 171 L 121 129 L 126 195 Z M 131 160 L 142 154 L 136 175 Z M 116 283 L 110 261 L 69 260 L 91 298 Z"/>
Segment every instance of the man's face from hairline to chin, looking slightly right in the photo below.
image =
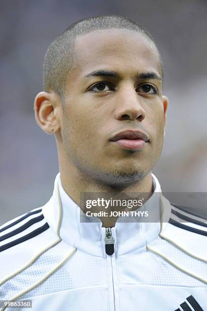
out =
<path fill-rule="evenodd" d="M 139 180 L 154 167 L 163 144 L 167 104 L 156 78 L 162 72 L 155 46 L 132 30 L 105 29 L 77 37 L 75 57 L 61 118 L 65 156 L 107 185 Z M 90 75 L 95 71 L 102 74 Z M 149 141 L 139 149 L 110 141 L 127 130 L 141 131 Z"/>

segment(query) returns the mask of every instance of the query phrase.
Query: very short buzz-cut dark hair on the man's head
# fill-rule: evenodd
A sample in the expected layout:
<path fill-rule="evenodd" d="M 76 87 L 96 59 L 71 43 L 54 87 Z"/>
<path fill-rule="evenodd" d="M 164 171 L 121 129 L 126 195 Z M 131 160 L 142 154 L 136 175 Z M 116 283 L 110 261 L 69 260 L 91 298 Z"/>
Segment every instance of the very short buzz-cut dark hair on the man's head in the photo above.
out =
<path fill-rule="evenodd" d="M 64 99 L 66 77 L 75 61 L 75 38 L 99 29 L 123 28 L 135 30 L 152 41 L 158 50 L 163 78 L 163 63 L 160 51 L 150 33 L 138 23 L 118 15 L 101 15 L 81 19 L 64 30 L 47 49 L 44 65 L 44 90 L 54 90 Z"/>

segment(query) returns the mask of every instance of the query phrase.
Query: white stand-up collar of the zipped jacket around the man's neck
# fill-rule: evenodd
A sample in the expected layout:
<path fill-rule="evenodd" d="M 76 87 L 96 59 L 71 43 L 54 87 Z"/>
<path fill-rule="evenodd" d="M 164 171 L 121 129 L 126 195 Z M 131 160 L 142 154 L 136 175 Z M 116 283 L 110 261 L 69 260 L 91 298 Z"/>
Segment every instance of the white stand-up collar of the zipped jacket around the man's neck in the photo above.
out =
<path fill-rule="evenodd" d="M 154 174 L 152 177 L 153 194 L 139 210 L 148 211 L 149 215 L 152 213 L 159 215 L 162 205 L 161 188 Z M 101 222 L 80 222 L 80 207 L 64 191 L 60 173 L 55 179 L 53 196 L 43 208 L 43 213 L 51 229 L 66 243 L 91 255 L 106 256 L 105 228 Z M 145 246 L 158 236 L 160 228 L 159 221 L 119 222 L 118 219 L 111 228 L 116 256 Z"/>

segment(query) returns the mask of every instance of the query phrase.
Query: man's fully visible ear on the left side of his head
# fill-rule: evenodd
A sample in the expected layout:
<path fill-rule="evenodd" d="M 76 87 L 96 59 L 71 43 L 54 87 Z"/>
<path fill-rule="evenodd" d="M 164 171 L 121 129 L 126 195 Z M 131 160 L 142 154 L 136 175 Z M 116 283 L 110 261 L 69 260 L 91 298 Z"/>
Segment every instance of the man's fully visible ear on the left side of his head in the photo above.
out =
<path fill-rule="evenodd" d="M 55 134 L 60 130 L 58 102 L 55 93 L 39 92 L 35 97 L 35 120 L 39 127 L 47 134 Z"/>

